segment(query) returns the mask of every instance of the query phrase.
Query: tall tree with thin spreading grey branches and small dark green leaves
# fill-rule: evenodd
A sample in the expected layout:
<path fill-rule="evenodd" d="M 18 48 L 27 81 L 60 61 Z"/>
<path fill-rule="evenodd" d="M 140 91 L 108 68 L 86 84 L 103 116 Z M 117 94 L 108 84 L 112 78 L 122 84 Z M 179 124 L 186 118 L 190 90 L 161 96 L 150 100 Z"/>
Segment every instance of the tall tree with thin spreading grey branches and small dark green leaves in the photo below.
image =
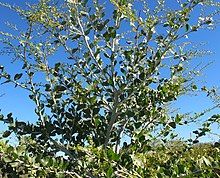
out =
<path fill-rule="evenodd" d="M 20 160 L 9 164 L 14 175 L 20 174 L 21 163 L 25 174 L 61 177 L 170 177 L 201 168 L 193 161 L 180 164 L 178 156 L 164 157 L 154 168 L 146 160 L 167 149 L 177 125 L 197 119 L 169 114 L 169 104 L 198 90 L 196 74 L 186 65 L 199 51 L 186 47 L 186 37 L 213 27 L 219 4 L 188 0 L 166 8 L 158 0 L 152 9 L 145 1 L 106 3 L 112 11 L 95 0 L 40 0 L 26 10 L 1 3 L 26 21 L 27 30 L 18 36 L 2 32 L 6 52 L 22 68 L 12 76 L 1 66 L 0 78 L 27 90 L 38 116 L 35 124 L 14 119 L 12 113 L 1 116 L 9 125 L 3 137 L 14 133 L 21 146 L 29 143 L 22 152 L 28 162 L 20 156 L 9 161 Z M 200 8 L 209 14 L 199 14 Z M 193 13 L 199 14 L 196 20 Z M 218 122 L 219 115 L 209 118 L 189 143 L 197 143 Z M 188 148 L 183 144 L 177 155 Z M 210 177 L 217 175 L 211 164 L 204 168 Z M 169 166 L 177 171 L 167 171 Z"/>

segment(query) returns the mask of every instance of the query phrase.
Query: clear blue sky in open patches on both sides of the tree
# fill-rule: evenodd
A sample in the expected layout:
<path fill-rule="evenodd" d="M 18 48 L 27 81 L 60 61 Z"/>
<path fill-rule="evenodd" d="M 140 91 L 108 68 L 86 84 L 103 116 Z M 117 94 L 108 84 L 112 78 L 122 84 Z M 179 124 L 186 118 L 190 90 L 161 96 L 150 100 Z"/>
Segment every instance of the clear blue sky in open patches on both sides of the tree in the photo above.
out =
<path fill-rule="evenodd" d="M 13 0 L 0 0 L 0 2 L 7 2 L 16 5 L 24 6 L 25 1 L 13 1 Z M 36 2 L 36 1 L 29 1 Z M 14 12 L 9 11 L 6 8 L 0 7 L 0 31 L 8 31 L 9 29 L 6 27 L 5 22 L 9 21 L 17 24 L 18 27 L 24 28 L 25 24 Z M 190 36 L 190 40 L 195 43 L 205 42 L 206 45 L 203 47 L 204 49 L 212 51 L 211 55 L 204 56 L 200 59 L 196 59 L 198 61 L 202 61 L 202 63 L 207 63 L 212 61 L 213 63 L 204 70 L 202 76 L 198 78 L 199 85 L 208 85 L 208 86 L 220 86 L 220 27 L 217 27 L 214 30 L 202 30 L 198 33 L 194 33 Z M 2 47 L 2 46 L 1 46 Z M 0 47 L 0 48 L 1 48 Z M 10 70 L 12 73 L 19 72 L 17 71 L 19 64 L 11 65 L 11 57 L 10 56 L 0 56 L 0 65 L 4 65 L 6 69 Z M 12 112 L 15 117 L 23 121 L 34 122 L 36 116 L 34 115 L 34 104 L 31 100 L 29 100 L 28 93 L 22 89 L 14 88 L 13 85 L 0 85 L 0 95 L 4 94 L 0 97 L 0 109 L 2 113 L 7 114 Z M 212 102 L 208 100 L 204 95 L 199 96 L 182 96 L 178 99 L 178 101 L 174 104 L 176 108 L 179 108 L 181 112 L 196 112 L 202 111 L 203 109 L 212 105 Z M 214 113 L 220 113 L 219 110 L 212 111 L 209 115 Z M 190 132 L 194 130 L 197 125 L 192 125 L 190 127 L 178 127 L 177 132 L 181 134 L 182 137 L 189 137 Z M 0 123 L 0 132 L 4 130 L 5 125 Z M 215 125 L 213 127 L 213 131 L 215 133 L 220 134 L 219 129 Z M 218 140 L 218 137 L 205 137 L 202 141 L 213 141 Z"/>

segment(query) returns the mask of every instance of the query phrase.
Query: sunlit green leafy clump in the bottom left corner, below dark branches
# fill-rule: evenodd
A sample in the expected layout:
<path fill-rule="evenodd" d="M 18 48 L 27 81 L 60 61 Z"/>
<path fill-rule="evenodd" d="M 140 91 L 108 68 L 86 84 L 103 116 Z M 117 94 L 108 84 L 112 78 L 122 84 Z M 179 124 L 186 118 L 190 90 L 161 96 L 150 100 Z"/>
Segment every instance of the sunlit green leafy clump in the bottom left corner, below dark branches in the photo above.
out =
<path fill-rule="evenodd" d="M 18 146 L 1 142 L 1 175 L 4 177 L 65 177 L 74 175 L 67 171 L 69 164 L 62 157 L 53 157 L 52 155 L 45 157 L 41 154 L 35 154 L 36 147 L 40 146 L 31 139 L 20 140 Z"/>

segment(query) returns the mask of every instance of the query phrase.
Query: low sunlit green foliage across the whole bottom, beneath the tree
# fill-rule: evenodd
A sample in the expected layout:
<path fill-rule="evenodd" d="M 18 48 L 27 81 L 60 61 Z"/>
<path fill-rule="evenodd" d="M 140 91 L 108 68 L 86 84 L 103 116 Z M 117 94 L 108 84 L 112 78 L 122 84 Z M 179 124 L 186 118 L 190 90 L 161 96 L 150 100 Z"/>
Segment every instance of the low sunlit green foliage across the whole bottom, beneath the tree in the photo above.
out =
<path fill-rule="evenodd" d="M 28 143 L 28 144 L 27 144 Z M 30 154 L 38 145 L 30 138 L 19 146 L 2 142 L 1 175 L 9 177 L 219 177 L 219 145 L 173 141 L 165 145 L 135 150 L 123 148 L 119 154 L 94 147 L 78 147 L 83 156 L 76 165 L 61 156 Z M 42 149 L 42 148 L 41 148 Z"/>

